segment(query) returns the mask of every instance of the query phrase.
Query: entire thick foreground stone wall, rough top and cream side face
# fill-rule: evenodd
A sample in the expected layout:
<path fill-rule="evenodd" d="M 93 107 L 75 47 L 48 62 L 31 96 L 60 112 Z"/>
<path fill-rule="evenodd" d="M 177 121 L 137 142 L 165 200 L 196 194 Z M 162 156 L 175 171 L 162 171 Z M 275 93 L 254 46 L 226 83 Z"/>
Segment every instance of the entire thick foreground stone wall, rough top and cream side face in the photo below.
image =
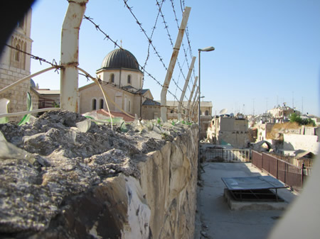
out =
<path fill-rule="evenodd" d="M 0 155 L 0 234 L 193 238 L 198 126 L 164 123 L 156 139 L 159 128 L 138 130 L 142 123 L 127 133 L 92 123 L 82 133 L 83 121 L 53 111 L 20 128 L 0 125 L 11 150 L 42 165 Z"/>

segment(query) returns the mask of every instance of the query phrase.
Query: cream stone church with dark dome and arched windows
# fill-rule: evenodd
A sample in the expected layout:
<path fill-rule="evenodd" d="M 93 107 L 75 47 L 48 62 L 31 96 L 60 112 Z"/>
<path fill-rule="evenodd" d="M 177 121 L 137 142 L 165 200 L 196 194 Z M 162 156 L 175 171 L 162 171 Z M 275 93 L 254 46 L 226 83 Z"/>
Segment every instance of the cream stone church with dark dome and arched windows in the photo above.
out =
<path fill-rule="evenodd" d="M 144 74 L 131 52 L 122 49 L 112 50 L 106 55 L 96 73 L 109 97 L 107 103 L 110 111 L 119 112 L 121 108 L 132 116 L 137 114 L 142 118 L 154 118 L 142 112 L 144 103 L 152 101 L 153 96 L 149 89 L 142 89 Z M 94 82 L 79 88 L 78 105 L 80 113 L 98 109 L 107 110 L 102 91 Z M 149 105 L 145 107 L 149 108 Z"/>

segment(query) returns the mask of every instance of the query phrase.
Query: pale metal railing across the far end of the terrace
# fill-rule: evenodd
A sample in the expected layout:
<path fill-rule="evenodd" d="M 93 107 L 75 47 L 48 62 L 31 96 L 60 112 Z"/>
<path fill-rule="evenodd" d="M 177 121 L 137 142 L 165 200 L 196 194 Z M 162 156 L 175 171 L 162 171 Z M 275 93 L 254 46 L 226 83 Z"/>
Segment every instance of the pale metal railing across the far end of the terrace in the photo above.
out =
<path fill-rule="evenodd" d="M 250 150 L 206 148 L 200 150 L 202 162 L 250 162 Z"/>

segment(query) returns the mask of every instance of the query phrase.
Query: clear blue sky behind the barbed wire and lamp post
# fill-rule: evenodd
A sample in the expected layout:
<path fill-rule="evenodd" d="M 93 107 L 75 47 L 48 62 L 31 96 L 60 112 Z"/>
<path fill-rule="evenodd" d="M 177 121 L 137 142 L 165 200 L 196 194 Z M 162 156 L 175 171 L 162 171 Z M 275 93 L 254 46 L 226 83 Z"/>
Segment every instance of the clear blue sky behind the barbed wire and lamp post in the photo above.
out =
<path fill-rule="evenodd" d="M 142 23 L 146 35 L 151 36 L 159 7 L 156 0 L 129 0 L 134 16 Z M 158 0 L 159 4 L 162 3 Z M 303 113 L 319 113 L 319 66 L 320 66 L 320 1 L 319 0 L 166 0 L 162 13 L 173 43 L 178 26 L 174 21 L 174 9 L 178 25 L 182 19 L 182 6 L 190 6 L 188 37 L 192 55 L 196 56 L 194 76 L 198 75 L 198 48 L 215 47 L 213 52 L 201 52 L 201 95 L 204 101 L 212 101 L 213 114 L 221 109 L 228 113 L 255 114 L 272 109 L 284 102 Z M 33 5 L 31 38 L 32 53 L 48 61 L 60 60 L 60 35 L 68 1 L 38 0 Z M 124 6 L 123 0 L 89 0 L 86 16 L 137 57 L 144 65 L 148 52 L 148 40 L 134 16 Z M 152 43 L 164 65 L 169 66 L 172 46 L 159 16 Z M 103 58 L 112 50 L 114 43 L 89 21 L 83 19 L 80 27 L 80 67 L 92 76 L 101 66 Z M 183 37 L 188 65 L 191 53 L 186 34 Z M 146 65 L 149 72 L 161 84 L 166 70 L 154 50 L 150 48 Z M 182 89 L 188 66 L 183 48 L 178 55 L 183 74 L 176 63 L 173 78 Z M 32 60 L 31 73 L 48 67 Z M 33 80 L 41 88 L 60 89 L 60 74 L 48 72 Z M 80 76 L 79 86 L 88 84 Z M 169 91 L 181 96 L 171 80 Z M 160 99 L 161 87 L 147 74 L 144 89 L 151 89 L 154 99 Z M 190 95 L 186 91 L 186 97 Z M 168 100 L 174 100 L 171 94 Z"/>

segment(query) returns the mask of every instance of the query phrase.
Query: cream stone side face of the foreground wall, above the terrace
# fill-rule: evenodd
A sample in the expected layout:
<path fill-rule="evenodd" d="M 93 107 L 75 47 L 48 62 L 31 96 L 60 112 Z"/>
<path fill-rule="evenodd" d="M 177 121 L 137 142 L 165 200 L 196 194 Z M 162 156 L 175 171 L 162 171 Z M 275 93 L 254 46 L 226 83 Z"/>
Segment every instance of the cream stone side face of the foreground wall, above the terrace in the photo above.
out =
<path fill-rule="evenodd" d="M 115 210 L 117 217 L 124 218 L 119 220 L 121 238 L 193 238 L 197 142 L 194 125 L 139 162 L 139 179 L 124 174 L 107 179 L 103 191 L 112 199 L 110 204 L 121 207 Z"/>

